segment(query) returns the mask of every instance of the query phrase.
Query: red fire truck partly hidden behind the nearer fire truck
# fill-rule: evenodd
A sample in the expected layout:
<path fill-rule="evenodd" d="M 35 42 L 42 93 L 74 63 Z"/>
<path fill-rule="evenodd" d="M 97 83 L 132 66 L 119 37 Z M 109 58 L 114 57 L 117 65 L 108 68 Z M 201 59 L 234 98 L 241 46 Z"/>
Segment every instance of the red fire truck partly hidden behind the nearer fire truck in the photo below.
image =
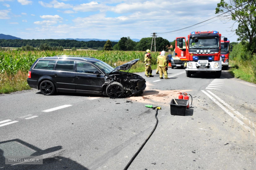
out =
<path fill-rule="evenodd" d="M 227 47 L 224 48 L 224 42 L 227 42 Z M 232 45 L 229 40 L 221 40 L 221 58 L 222 58 L 222 70 L 228 69 L 229 53 L 232 51 Z"/>

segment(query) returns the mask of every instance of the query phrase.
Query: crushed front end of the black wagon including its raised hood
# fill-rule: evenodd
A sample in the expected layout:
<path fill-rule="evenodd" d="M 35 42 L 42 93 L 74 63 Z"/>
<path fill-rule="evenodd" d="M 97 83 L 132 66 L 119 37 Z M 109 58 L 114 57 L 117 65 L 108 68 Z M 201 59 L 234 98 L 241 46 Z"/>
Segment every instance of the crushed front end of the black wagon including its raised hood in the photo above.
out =
<path fill-rule="evenodd" d="M 106 89 L 104 91 L 104 95 L 108 95 L 108 93 L 112 93 L 113 91 L 115 91 L 115 89 L 112 90 L 111 92 L 108 92 L 107 90 L 108 89 L 107 87 L 114 82 L 118 82 L 121 84 L 121 86 L 123 86 L 122 97 L 130 96 L 130 95 L 141 95 L 146 88 L 145 79 L 137 74 L 120 71 L 120 70 L 129 71 L 132 65 L 134 65 L 138 61 L 139 59 L 135 59 L 123 65 L 120 65 L 117 68 L 115 68 L 115 70 L 113 70 L 111 73 L 106 75 L 105 83 L 103 85 L 103 89 Z M 118 88 L 117 86 L 115 87 Z M 112 97 L 112 98 L 118 98 L 118 97 Z"/>

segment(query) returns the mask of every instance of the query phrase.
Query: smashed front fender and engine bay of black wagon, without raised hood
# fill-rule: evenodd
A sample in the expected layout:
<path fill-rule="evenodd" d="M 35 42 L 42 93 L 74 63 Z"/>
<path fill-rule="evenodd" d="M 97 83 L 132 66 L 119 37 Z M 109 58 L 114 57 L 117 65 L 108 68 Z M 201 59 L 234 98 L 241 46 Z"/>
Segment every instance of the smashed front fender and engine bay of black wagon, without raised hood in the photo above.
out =
<path fill-rule="evenodd" d="M 118 82 L 123 86 L 123 96 L 140 95 L 146 86 L 146 81 L 143 77 L 133 73 L 116 71 L 105 77 L 103 89 L 113 82 Z"/>

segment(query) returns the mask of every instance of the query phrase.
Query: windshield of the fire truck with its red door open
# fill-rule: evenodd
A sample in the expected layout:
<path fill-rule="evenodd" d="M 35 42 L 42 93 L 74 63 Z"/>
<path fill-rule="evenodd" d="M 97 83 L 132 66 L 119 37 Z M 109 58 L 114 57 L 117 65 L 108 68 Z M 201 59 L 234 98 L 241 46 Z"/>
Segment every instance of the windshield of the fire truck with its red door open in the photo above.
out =
<path fill-rule="evenodd" d="M 189 39 L 189 48 L 219 48 L 218 37 L 196 37 Z"/>

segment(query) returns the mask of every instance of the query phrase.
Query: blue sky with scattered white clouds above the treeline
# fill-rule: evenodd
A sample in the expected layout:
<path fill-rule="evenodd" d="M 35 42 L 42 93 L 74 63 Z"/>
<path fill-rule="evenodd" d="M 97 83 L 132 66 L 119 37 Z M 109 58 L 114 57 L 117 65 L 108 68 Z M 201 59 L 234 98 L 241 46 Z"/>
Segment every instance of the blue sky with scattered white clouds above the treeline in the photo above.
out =
<path fill-rule="evenodd" d="M 0 33 L 22 39 L 141 39 L 216 16 L 220 0 L 0 0 Z M 206 23 L 214 21 L 210 20 Z M 201 25 L 204 25 L 203 23 Z M 192 31 L 216 30 L 231 41 L 233 22 L 220 20 L 192 30 L 159 36 L 172 41 Z M 200 25 L 199 25 L 200 26 Z M 195 29 L 193 29 L 195 28 Z M 234 26 L 237 28 L 237 25 Z"/>

